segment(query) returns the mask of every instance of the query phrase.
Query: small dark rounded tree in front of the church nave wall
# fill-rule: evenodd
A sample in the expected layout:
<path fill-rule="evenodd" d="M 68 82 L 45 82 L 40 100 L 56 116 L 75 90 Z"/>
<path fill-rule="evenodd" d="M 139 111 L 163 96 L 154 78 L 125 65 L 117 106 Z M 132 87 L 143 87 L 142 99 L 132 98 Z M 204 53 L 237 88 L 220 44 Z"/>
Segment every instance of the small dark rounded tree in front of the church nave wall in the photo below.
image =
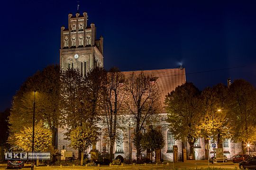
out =
<path fill-rule="evenodd" d="M 141 146 L 144 150 L 150 151 L 150 161 L 153 161 L 153 152 L 156 149 L 162 149 L 165 146 L 165 137 L 160 130 L 157 130 L 153 126 L 149 126 L 145 134 L 141 139 Z"/>

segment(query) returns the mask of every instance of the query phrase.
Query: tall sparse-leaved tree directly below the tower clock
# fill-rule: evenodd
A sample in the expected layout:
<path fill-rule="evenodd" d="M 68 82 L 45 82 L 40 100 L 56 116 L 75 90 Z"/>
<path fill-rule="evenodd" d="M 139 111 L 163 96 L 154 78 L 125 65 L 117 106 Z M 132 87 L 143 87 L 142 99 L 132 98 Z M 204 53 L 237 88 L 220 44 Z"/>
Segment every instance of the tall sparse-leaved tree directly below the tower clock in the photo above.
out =
<path fill-rule="evenodd" d="M 62 111 L 62 124 L 69 139 L 70 132 L 83 123 L 88 122 L 91 116 L 89 109 L 89 95 L 86 77 L 78 69 L 67 69 L 61 74 L 60 108 Z"/>

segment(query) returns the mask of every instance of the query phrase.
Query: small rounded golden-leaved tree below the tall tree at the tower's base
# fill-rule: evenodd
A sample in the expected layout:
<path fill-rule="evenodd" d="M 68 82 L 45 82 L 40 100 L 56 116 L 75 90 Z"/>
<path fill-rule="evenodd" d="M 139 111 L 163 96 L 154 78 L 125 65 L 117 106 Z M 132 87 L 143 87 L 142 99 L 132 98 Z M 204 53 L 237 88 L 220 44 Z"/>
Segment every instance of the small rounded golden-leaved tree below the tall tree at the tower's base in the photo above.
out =
<path fill-rule="evenodd" d="M 99 132 L 96 128 L 91 127 L 90 124 L 82 125 L 74 128 L 70 133 L 71 147 L 82 151 L 81 166 L 83 164 L 83 153 L 92 144 L 99 140 Z"/>

